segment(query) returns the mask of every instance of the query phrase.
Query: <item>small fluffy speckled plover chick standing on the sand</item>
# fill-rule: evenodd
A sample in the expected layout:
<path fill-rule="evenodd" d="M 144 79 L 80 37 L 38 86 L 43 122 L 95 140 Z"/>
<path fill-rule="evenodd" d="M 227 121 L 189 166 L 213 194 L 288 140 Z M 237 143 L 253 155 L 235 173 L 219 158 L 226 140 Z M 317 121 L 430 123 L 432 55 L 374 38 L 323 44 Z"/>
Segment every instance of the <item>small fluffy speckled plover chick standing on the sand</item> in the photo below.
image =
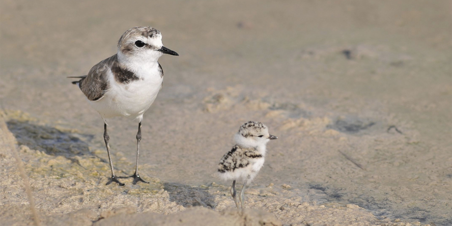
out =
<path fill-rule="evenodd" d="M 237 209 L 240 208 L 236 197 L 236 180 L 243 181 L 239 196 L 243 209 L 245 186 L 256 177 L 262 165 L 264 165 L 267 142 L 277 138 L 268 133 L 268 128 L 264 124 L 249 121 L 243 124 L 239 132 L 234 135 L 236 145 L 221 158 L 218 164 L 218 173 L 224 180 L 234 180 L 231 195 Z"/>

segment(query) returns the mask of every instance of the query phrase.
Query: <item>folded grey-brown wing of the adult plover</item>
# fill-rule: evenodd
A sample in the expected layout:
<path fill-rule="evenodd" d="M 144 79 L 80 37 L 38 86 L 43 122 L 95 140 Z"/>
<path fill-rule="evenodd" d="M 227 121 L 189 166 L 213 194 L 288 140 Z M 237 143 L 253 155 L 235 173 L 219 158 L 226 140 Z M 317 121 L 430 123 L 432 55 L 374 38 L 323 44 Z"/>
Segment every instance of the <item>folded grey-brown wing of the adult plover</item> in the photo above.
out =
<path fill-rule="evenodd" d="M 102 98 L 108 89 L 107 71 L 111 64 L 115 62 L 117 55 L 112 55 L 91 68 L 87 76 L 78 81 L 81 92 L 87 96 L 88 100 L 95 101 Z"/>

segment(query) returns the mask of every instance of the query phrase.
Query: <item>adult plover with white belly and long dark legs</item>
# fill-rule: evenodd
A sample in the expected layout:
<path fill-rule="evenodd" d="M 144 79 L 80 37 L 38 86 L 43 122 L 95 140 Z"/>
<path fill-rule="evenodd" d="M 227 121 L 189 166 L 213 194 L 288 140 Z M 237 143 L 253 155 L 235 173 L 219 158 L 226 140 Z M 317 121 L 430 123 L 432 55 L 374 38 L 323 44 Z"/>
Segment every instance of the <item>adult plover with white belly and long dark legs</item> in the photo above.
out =
<path fill-rule="evenodd" d="M 118 52 L 91 68 L 88 75 L 73 77 L 91 106 L 104 120 L 104 141 L 110 162 L 111 182 L 118 180 L 111 161 L 106 119 L 126 116 L 137 119 L 136 166 L 133 184 L 144 181 L 138 174 L 139 142 L 143 114 L 157 97 L 163 84 L 163 70 L 157 60 L 165 54 L 179 55 L 162 44 L 161 33 L 149 26 L 132 27 L 118 41 Z M 120 177 L 127 178 L 127 177 Z"/>

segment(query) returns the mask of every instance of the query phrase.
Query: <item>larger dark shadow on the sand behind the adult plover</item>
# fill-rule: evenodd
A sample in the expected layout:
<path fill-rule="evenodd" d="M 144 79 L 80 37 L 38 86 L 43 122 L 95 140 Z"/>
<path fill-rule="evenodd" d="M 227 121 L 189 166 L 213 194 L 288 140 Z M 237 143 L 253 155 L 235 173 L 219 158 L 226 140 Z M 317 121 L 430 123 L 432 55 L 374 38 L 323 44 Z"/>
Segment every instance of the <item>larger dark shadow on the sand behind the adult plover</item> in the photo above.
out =
<path fill-rule="evenodd" d="M 63 132 L 59 129 L 30 123 L 28 121 L 10 120 L 8 129 L 16 137 L 18 145 L 26 145 L 30 149 L 43 151 L 48 155 L 64 156 L 73 159 L 75 156 L 94 156 L 83 140 L 90 142 L 94 136 Z"/>

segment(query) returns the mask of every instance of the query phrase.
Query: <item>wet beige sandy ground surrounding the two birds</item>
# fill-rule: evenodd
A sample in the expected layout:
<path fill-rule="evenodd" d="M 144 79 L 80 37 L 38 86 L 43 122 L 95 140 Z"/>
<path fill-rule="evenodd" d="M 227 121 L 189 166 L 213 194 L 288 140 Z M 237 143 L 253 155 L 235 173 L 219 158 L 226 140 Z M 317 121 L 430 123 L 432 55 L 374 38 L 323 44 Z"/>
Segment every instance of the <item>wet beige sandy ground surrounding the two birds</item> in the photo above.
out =
<path fill-rule="evenodd" d="M 2 1 L 0 104 L 15 140 L 2 141 L 0 217 L 33 223 L 7 145 L 17 141 L 49 225 L 115 216 L 137 224 L 206 216 L 225 225 L 450 225 L 450 8 Z M 137 25 L 156 27 L 180 56 L 159 60 L 163 89 L 144 116 L 140 175 L 151 183 L 106 186 L 102 120 L 66 77 L 114 54 Z M 279 139 L 247 189 L 243 217 L 215 169 L 248 120 Z M 115 168 L 130 175 L 137 122 L 109 124 Z"/>

